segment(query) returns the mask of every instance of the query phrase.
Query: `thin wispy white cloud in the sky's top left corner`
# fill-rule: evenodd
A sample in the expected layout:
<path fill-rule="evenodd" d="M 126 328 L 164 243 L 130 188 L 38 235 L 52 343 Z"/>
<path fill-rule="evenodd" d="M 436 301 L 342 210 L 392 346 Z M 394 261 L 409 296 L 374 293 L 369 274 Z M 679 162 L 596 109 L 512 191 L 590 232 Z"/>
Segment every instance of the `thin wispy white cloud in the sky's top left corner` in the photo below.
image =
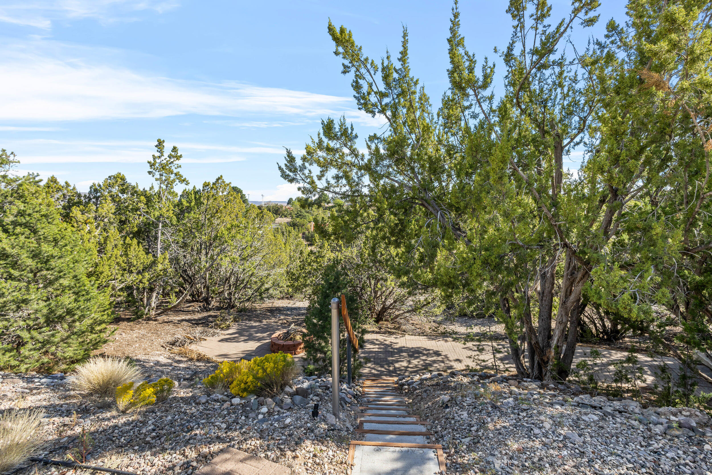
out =
<path fill-rule="evenodd" d="M 139 11 L 163 13 L 178 5 L 171 0 L 5 0 L 0 4 L 0 21 L 49 29 L 58 20 L 135 21 Z"/>

